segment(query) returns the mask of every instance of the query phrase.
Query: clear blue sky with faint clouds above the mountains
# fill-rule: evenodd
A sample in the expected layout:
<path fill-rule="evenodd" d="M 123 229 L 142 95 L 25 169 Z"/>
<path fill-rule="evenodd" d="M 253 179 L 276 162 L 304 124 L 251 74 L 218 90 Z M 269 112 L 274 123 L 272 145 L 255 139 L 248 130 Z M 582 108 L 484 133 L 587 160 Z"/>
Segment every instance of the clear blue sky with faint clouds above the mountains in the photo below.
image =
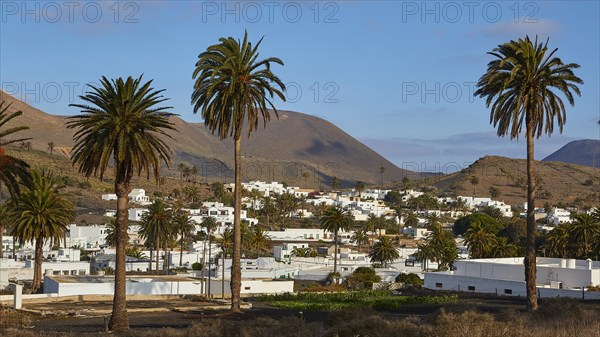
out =
<path fill-rule="evenodd" d="M 597 1 L 8 1 L 0 0 L 2 90 L 52 114 L 102 76 L 154 79 L 173 111 L 190 105 L 200 52 L 222 36 L 265 36 L 261 55 L 285 62 L 280 109 L 325 118 L 400 167 L 438 171 L 484 155 L 525 156 L 495 135 L 474 82 L 486 52 L 525 34 L 550 37 L 581 65 L 582 97 L 542 159 L 570 140 L 600 139 Z"/>

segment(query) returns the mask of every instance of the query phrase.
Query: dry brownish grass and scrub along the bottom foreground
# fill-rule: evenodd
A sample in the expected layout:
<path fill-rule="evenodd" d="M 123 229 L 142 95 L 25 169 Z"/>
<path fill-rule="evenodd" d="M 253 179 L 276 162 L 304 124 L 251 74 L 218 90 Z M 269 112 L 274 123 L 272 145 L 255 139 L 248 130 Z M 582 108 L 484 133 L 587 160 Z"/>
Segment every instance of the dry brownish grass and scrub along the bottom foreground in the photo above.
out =
<path fill-rule="evenodd" d="M 394 313 L 371 310 L 347 310 L 329 313 L 323 321 L 306 322 L 297 317 L 279 320 L 254 318 L 234 320 L 206 318 L 186 329 L 138 329 L 119 336 L 187 337 L 187 336 L 370 336 L 370 337 L 599 337 L 600 305 L 570 300 L 544 301 L 537 312 L 505 310 L 485 313 L 467 306 L 440 309 L 428 316 L 399 317 Z M 30 317 L 4 310 L 0 317 L 2 336 L 98 336 L 99 334 L 34 333 L 24 331 Z M 102 334 L 100 334 L 102 335 Z"/>

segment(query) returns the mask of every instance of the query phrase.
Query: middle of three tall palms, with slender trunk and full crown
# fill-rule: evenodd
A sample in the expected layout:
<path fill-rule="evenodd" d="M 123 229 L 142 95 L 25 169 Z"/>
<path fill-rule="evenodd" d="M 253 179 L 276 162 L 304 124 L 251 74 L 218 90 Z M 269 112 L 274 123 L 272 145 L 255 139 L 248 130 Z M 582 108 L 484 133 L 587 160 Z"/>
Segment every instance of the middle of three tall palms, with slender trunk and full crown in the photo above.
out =
<path fill-rule="evenodd" d="M 242 285 L 240 210 L 242 204 L 241 184 L 241 138 L 244 124 L 248 137 L 270 121 L 277 110 L 272 99 L 277 96 L 285 101 L 285 85 L 271 72 L 271 64 L 283 65 L 278 58 L 258 60 L 258 47 L 248 41 L 233 37 L 221 38 L 218 44 L 208 47 L 199 55 L 193 73 L 195 79 L 192 93 L 194 113 L 201 111 L 204 124 L 221 139 L 233 137 L 235 155 L 235 190 L 233 221 L 233 265 L 231 271 L 231 311 L 240 311 Z"/>

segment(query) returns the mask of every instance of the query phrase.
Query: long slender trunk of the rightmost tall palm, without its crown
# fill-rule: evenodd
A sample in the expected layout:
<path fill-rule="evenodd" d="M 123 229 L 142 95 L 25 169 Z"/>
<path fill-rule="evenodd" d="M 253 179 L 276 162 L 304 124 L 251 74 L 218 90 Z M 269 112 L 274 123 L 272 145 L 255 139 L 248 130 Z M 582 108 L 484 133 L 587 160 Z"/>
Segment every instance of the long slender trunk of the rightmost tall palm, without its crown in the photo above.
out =
<path fill-rule="evenodd" d="M 527 113 L 527 252 L 525 254 L 525 283 L 527 307 L 536 310 L 536 256 L 535 256 L 535 169 L 533 162 L 533 123 Z"/>

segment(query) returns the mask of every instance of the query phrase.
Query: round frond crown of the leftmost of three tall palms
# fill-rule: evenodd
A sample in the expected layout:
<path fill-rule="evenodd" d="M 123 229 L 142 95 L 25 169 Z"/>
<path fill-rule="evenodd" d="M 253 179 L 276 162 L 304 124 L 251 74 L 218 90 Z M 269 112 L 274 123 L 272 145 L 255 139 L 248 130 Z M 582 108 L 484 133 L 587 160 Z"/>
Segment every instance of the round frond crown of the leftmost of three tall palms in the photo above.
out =
<path fill-rule="evenodd" d="M 142 83 L 142 76 L 127 80 L 102 77 L 101 86 L 91 87 L 79 96 L 88 104 L 70 104 L 82 109 L 83 115 L 70 117 L 68 128 L 78 128 L 74 135 L 72 159 L 86 176 L 100 178 L 114 159 L 116 172 L 126 179 L 143 171 L 158 177 L 160 161 L 169 163 L 170 151 L 159 136 L 170 137 L 165 130 L 175 130 L 169 118 L 172 107 L 155 107 L 167 100 L 154 90 L 152 81 Z"/>

